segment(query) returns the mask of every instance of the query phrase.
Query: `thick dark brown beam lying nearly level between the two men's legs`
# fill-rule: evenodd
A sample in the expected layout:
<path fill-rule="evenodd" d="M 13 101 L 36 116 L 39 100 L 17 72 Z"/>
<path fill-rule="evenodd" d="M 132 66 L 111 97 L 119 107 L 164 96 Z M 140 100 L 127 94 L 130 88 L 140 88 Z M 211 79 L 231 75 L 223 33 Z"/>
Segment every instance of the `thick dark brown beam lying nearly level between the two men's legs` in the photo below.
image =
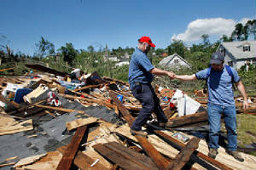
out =
<path fill-rule="evenodd" d="M 166 127 L 182 127 L 184 125 L 198 123 L 198 122 L 207 122 L 208 116 L 207 112 L 195 113 L 188 116 L 179 116 L 172 119 L 169 119 L 169 122 L 166 123 Z"/>

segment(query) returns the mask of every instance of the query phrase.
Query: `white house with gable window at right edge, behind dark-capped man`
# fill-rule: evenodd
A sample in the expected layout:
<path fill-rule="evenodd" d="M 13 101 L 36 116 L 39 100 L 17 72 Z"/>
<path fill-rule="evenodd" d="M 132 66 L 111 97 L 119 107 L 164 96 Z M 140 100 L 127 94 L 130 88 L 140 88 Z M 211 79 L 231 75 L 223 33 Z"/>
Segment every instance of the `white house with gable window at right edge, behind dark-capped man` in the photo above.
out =
<path fill-rule="evenodd" d="M 256 41 L 222 42 L 217 49 L 224 54 L 224 64 L 240 69 L 242 65 L 256 65 Z"/>

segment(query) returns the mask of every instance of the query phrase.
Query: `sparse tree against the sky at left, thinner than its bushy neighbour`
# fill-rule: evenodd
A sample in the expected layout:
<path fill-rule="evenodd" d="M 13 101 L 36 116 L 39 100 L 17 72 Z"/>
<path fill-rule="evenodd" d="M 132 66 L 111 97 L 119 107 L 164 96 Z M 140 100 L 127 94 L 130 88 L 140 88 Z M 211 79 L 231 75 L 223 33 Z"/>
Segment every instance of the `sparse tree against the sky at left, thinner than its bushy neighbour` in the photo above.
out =
<path fill-rule="evenodd" d="M 48 40 L 45 40 L 44 37 L 41 37 L 41 40 L 36 43 L 36 48 L 38 48 L 38 56 L 41 58 L 55 54 L 55 45 Z"/>

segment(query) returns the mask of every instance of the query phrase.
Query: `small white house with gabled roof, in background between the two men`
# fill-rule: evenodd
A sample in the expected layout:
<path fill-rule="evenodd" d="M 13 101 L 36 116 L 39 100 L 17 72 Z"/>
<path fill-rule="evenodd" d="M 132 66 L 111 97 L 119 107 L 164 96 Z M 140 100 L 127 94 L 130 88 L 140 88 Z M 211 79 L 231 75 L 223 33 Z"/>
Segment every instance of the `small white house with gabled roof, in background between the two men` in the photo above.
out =
<path fill-rule="evenodd" d="M 178 54 L 172 54 L 165 59 L 162 59 L 159 63 L 163 67 L 180 68 L 181 66 L 191 68 L 192 65 L 188 61 L 183 59 Z"/>

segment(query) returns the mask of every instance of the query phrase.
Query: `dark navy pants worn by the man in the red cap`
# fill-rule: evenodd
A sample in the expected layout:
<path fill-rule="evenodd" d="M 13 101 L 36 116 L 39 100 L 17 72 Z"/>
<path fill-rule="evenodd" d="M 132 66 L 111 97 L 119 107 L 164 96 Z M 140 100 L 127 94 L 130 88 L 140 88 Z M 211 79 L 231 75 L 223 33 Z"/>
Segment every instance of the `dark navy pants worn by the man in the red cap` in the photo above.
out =
<path fill-rule="evenodd" d="M 132 122 L 132 130 L 142 130 L 144 123 L 148 121 L 149 116 L 154 111 L 157 116 L 158 122 L 168 122 L 168 119 L 164 111 L 160 107 L 160 99 L 157 98 L 154 93 L 154 89 L 151 84 L 141 84 L 140 90 L 134 88 L 131 93 L 133 96 L 142 103 L 143 109 L 139 112 L 136 120 Z"/>

